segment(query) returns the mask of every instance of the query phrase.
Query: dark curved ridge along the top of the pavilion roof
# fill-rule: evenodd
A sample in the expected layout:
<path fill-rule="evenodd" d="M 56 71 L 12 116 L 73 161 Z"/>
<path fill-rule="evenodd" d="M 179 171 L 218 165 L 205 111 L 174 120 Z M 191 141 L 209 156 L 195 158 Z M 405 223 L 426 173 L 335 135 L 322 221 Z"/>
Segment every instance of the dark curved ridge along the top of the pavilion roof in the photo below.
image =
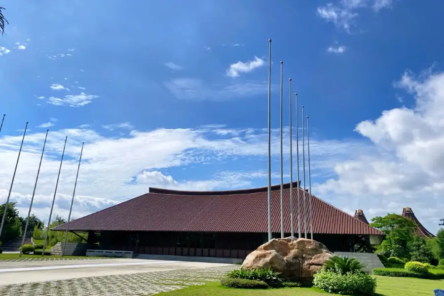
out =
<path fill-rule="evenodd" d="M 299 181 L 299 185 L 300 185 Z M 296 188 L 297 181 L 293 182 L 293 188 Z M 271 185 L 271 191 L 280 190 L 281 185 Z M 290 189 L 290 183 L 284 184 L 284 189 Z M 234 190 L 221 190 L 221 191 L 188 191 L 188 190 L 175 190 L 175 189 L 166 189 L 166 188 L 157 188 L 157 187 L 149 187 L 149 193 L 159 193 L 159 194 L 170 194 L 170 195 L 235 195 L 235 194 L 249 194 L 249 193 L 260 193 L 267 192 L 268 186 L 256 187 L 256 188 L 247 188 L 247 189 L 234 189 Z"/>

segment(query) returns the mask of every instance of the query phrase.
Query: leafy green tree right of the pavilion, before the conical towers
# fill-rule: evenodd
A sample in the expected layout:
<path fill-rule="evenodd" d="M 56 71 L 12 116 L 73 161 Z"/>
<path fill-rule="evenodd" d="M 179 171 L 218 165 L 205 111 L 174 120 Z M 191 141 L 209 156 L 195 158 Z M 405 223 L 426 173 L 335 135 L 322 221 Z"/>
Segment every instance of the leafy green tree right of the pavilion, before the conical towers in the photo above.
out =
<path fill-rule="evenodd" d="M 408 242 L 412 240 L 415 222 L 398 214 L 387 214 L 371 219 L 370 226 L 386 234 L 384 241 L 377 248 L 378 253 L 398 258 L 409 257 Z"/>

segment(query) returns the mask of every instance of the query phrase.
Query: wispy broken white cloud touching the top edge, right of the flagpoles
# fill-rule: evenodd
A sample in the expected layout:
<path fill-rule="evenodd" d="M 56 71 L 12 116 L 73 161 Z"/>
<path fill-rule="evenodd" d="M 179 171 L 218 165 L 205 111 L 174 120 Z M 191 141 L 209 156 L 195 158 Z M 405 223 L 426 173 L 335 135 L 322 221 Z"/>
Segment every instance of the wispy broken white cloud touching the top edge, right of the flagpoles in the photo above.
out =
<path fill-rule="evenodd" d="M 375 12 L 389 7 L 391 0 L 340 0 L 337 4 L 328 3 L 317 8 L 317 14 L 327 22 L 332 22 L 339 28 L 350 33 L 351 27 L 358 17 L 358 9 L 373 7 Z"/>

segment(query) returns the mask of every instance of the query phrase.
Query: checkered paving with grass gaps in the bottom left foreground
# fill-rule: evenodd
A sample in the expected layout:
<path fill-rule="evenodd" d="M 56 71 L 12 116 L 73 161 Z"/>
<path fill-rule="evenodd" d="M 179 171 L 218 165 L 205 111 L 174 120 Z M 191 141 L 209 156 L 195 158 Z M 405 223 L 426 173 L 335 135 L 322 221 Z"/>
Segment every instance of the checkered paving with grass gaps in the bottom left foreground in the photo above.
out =
<path fill-rule="evenodd" d="M 0 296 L 145 296 L 218 281 L 240 265 L 0 286 Z"/>

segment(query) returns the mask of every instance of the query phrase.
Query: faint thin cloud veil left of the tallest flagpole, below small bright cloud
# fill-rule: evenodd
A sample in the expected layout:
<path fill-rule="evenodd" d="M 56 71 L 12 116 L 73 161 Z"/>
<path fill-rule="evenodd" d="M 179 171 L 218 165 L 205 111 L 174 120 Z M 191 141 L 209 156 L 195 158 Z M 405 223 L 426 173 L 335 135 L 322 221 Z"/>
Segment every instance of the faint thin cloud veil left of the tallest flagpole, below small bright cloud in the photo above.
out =
<path fill-rule="evenodd" d="M 181 100 L 233 100 L 266 94 L 267 82 L 233 83 L 228 85 L 206 84 L 201 79 L 175 78 L 164 83 L 165 87 Z"/>

